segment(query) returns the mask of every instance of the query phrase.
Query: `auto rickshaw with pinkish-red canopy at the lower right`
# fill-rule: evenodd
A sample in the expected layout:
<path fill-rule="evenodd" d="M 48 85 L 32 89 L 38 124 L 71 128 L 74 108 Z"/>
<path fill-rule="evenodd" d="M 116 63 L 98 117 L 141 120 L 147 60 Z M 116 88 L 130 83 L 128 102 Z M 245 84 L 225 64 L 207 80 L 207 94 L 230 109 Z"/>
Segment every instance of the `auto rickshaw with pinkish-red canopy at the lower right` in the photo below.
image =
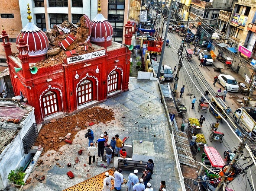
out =
<path fill-rule="evenodd" d="M 204 147 L 204 153 L 202 154 L 202 162 L 204 162 L 205 166 L 207 166 L 211 170 L 210 171 L 205 167 L 201 167 L 204 168 L 204 172 L 206 172 L 207 177 L 219 178 L 218 174 L 221 171 L 222 167 L 225 165 L 225 162 L 214 147 Z"/>

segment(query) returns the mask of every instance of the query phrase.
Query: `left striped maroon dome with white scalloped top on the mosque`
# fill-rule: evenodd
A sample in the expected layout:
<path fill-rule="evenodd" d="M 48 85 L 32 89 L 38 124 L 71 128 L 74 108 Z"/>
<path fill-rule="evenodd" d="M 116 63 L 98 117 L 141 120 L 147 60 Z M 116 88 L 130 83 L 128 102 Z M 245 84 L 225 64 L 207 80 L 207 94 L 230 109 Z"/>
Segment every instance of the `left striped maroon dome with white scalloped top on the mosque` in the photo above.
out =
<path fill-rule="evenodd" d="M 33 60 L 35 60 L 34 57 L 42 58 L 43 55 L 47 54 L 49 47 L 48 37 L 34 23 L 29 22 L 20 32 L 21 34 L 16 39 L 16 45 L 18 45 L 21 35 L 26 44 L 29 45 L 29 57 L 33 57 Z"/>

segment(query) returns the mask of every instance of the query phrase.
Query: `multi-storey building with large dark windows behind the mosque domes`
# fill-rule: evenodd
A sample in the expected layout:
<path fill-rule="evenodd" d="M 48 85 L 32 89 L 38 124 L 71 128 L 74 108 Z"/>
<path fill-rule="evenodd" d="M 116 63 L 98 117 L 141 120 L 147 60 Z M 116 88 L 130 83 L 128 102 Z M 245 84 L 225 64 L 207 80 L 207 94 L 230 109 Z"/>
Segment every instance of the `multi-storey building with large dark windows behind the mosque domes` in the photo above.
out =
<path fill-rule="evenodd" d="M 53 25 L 68 20 L 79 22 L 83 14 L 93 19 L 97 15 L 97 0 L 10 0 L 4 1 L 0 8 L 0 23 L 10 31 L 10 42 L 16 41 L 19 29 L 27 24 L 26 5 L 30 5 L 32 22 L 43 31 L 52 29 Z M 101 13 L 113 26 L 113 41 L 123 42 L 123 26 L 128 19 L 128 0 L 109 0 L 101 2 Z"/>

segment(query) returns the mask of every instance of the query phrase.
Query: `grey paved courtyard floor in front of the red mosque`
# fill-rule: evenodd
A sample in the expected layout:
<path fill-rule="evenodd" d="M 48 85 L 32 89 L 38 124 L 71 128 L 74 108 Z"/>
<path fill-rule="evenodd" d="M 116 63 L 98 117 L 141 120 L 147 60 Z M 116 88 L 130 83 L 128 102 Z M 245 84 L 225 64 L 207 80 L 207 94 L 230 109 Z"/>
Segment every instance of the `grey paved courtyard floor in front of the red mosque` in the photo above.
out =
<path fill-rule="evenodd" d="M 137 80 L 130 77 L 129 91 L 107 99 L 106 102 L 98 105 L 113 109 L 116 119 L 107 124 L 93 125 L 91 129 L 94 131 L 95 140 L 102 132 L 107 131 L 110 138 L 115 134 L 119 134 L 121 139 L 129 136 L 125 143 L 130 145 L 133 140 L 152 141 L 156 153 L 154 174 L 150 181 L 152 188 L 158 190 L 161 180 L 165 180 L 167 190 L 181 190 L 169 127 L 160 99 L 156 80 Z M 52 156 L 48 158 L 46 155 L 49 152 L 40 157 L 39 159 L 43 159 L 47 166 L 36 169 L 29 176 L 29 178 L 32 178 L 31 184 L 25 185 L 23 190 L 61 191 L 106 171 L 103 167 L 96 166 L 96 163 L 91 166 L 87 164 L 88 155 L 86 147 L 88 140 L 84 138 L 84 134 L 85 131 L 78 132 L 72 145 L 63 146 L 60 150 L 65 152 L 61 156 L 58 155 L 58 152 L 53 151 Z M 80 162 L 67 167 L 66 163 L 74 161 L 80 149 L 84 150 L 82 155 L 78 156 Z M 56 155 L 60 158 L 58 162 L 61 167 L 56 165 L 54 160 Z M 87 164 L 87 167 L 83 166 L 84 163 Z M 75 175 L 75 178 L 71 180 L 66 175 L 70 170 Z M 128 180 L 130 171 L 123 171 L 122 173 L 124 178 Z M 37 181 L 34 178 L 36 174 L 44 174 L 46 176 L 45 180 L 42 183 Z M 139 172 L 138 176 L 141 177 L 141 175 L 142 172 Z M 126 185 L 123 185 L 122 191 L 126 191 L 126 188 Z"/>

